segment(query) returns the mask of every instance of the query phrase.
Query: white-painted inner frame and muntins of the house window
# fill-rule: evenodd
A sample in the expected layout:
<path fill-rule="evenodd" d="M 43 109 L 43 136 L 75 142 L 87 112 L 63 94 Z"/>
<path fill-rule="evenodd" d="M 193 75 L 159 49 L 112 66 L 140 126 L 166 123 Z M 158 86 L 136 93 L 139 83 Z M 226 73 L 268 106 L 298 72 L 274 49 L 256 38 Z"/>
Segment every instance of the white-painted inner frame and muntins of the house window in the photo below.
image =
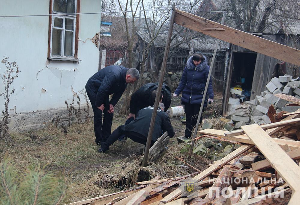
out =
<path fill-rule="evenodd" d="M 75 8 L 74 13 L 76 13 L 77 10 L 77 0 L 75 0 Z M 54 0 L 52 0 L 52 14 L 64 14 L 61 12 L 54 11 Z M 54 20 L 55 18 L 63 19 L 63 28 L 55 27 L 54 26 Z M 73 31 L 65 29 L 65 20 L 66 19 L 73 19 Z M 61 30 L 61 55 L 52 55 L 52 34 L 53 34 L 53 28 Z M 72 50 L 72 56 L 65 56 L 64 55 L 64 35 L 65 31 L 71 31 L 73 32 L 73 50 Z M 56 59 L 75 59 L 75 33 L 76 33 L 76 14 L 75 15 L 54 15 L 51 19 L 51 36 L 50 36 L 50 58 L 56 58 Z"/>

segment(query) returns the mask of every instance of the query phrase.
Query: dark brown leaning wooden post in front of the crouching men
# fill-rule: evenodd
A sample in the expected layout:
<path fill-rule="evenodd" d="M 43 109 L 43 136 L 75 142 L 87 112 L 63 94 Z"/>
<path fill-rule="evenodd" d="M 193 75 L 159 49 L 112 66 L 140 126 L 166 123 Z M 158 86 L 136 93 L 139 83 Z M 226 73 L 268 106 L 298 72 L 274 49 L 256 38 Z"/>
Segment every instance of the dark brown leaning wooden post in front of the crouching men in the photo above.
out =
<path fill-rule="evenodd" d="M 151 140 L 152 140 L 152 133 L 154 130 L 154 124 L 155 124 L 155 118 L 156 118 L 156 113 L 157 113 L 157 109 L 158 109 L 159 98 L 161 96 L 161 88 L 164 83 L 164 75 L 165 75 L 165 71 L 166 71 L 166 67 L 167 67 L 167 58 L 168 58 L 168 53 L 170 50 L 170 43 L 171 43 L 171 37 L 172 37 L 172 33 L 173 33 L 175 13 L 176 13 L 175 12 L 175 4 L 173 4 L 172 16 L 171 16 L 171 21 L 170 21 L 170 26 L 169 26 L 169 33 L 168 33 L 168 38 L 167 38 L 167 43 L 166 43 L 166 48 L 165 48 L 165 53 L 164 53 L 164 59 L 163 59 L 162 65 L 161 65 L 161 74 L 159 76 L 158 88 L 157 88 L 157 93 L 156 93 L 155 102 L 154 102 L 154 109 L 152 112 L 149 133 L 148 133 L 146 148 L 145 148 L 145 152 L 144 152 L 144 158 L 143 158 L 143 164 L 142 164 L 143 167 L 147 166 L 148 154 L 149 154 L 149 149 L 150 149 Z"/>

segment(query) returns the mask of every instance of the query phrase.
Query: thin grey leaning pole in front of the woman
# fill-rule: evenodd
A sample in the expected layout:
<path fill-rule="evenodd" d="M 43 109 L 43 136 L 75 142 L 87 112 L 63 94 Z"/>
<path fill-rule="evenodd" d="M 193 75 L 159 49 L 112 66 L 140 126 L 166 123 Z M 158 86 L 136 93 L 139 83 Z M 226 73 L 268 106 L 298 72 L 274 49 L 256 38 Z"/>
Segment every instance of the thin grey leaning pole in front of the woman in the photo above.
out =
<path fill-rule="evenodd" d="M 221 24 L 224 24 L 225 15 L 226 15 L 226 13 L 223 13 Z M 214 31 L 214 32 L 218 32 L 218 31 Z M 202 101 L 201 101 L 201 106 L 200 106 L 200 110 L 199 110 L 199 115 L 198 115 L 196 127 L 194 128 L 194 133 L 193 133 L 193 138 L 192 138 L 192 145 L 190 146 L 190 154 L 189 154 L 190 157 L 193 154 L 193 148 L 194 148 L 194 144 L 195 144 L 194 139 L 195 139 L 196 134 L 198 132 L 199 122 L 200 122 L 200 118 L 201 118 L 201 115 L 202 115 L 202 110 L 203 110 L 203 106 L 204 106 L 204 102 L 205 102 L 205 97 L 206 97 L 207 88 L 208 88 L 208 84 L 209 84 L 209 80 L 210 80 L 210 76 L 211 76 L 211 71 L 212 71 L 212 68 L 214 67 L 214 60 L 216 58 L 217 48 L 218 48 L 219 43 L 220 43 L 220 40 L 217 39 L 216 45 L 214 47 L 214 54 L 213 54 L 212 59 L 211 59 L 210 69 L 209 69 L 209 72 L 208 72 L 208 77 L 207 77 L 207 81 L 206 81 L 206 85 L 205 85 L 205 89 L 204 89 L 204 93 L 203 93 L 203 98 L 202 98 Z"/>

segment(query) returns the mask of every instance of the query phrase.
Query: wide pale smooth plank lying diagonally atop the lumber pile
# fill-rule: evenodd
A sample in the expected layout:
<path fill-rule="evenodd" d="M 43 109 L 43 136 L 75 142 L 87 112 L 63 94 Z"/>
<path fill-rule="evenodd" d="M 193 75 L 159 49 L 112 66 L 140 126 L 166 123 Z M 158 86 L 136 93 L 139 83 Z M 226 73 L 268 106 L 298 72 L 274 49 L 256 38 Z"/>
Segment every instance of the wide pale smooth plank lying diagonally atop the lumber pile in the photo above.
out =
<path fill-rule="evenodd" d="M 294 192 L 300 192 L 300 168 L 257 124 L 241 126 Z M 283 163 L 284 162 L 284 163 Z"/>

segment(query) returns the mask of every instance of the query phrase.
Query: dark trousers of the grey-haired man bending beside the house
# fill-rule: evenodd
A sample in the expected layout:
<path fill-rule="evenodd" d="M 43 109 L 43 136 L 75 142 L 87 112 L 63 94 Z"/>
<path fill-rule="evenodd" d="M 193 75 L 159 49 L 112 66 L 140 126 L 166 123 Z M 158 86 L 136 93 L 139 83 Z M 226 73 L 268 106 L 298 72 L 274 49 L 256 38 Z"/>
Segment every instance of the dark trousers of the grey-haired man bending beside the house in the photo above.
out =
<path fill-rule="evenodd" d="M 105 97 L 104 100 L 104 110 L 103 110 L 103 123 L 102 123 L 102 111 L 98 109 L 95 105 L 96 95 L 90 94 L 87 91 L 88 98 L 91 101 L 91 105 L 94 111 L 94 131 L 95 131 L 95 142 L 98 145 L 99 142 L 105 141 L 112 131 L 113 124 L 113 113 L 108 113 L 107 110 L 110 109 L 110 99 L 109 96 Z"/>

